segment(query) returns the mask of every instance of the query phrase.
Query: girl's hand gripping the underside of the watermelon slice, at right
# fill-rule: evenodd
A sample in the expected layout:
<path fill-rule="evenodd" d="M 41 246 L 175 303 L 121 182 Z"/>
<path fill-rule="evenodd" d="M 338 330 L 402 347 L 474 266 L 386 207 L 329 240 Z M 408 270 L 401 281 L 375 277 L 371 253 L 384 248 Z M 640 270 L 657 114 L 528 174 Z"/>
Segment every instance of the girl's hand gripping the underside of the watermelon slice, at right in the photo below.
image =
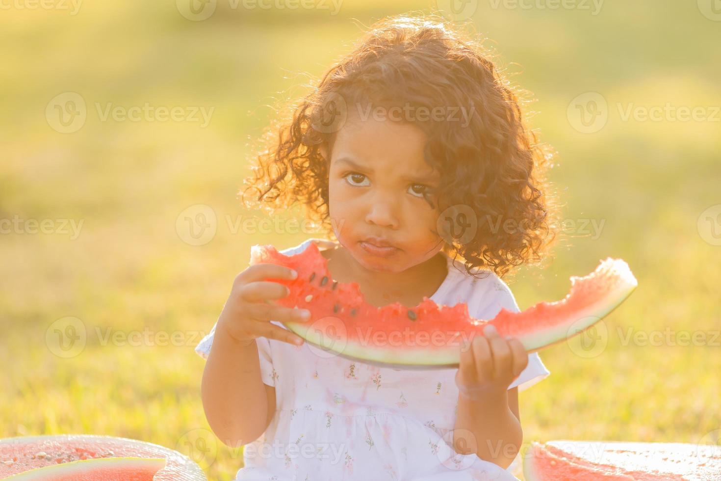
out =
<path fill-rule="evenodd" d="M 526 366 L 528 354 L 521 341 L 500 337 L 495 326 L 487 325 L 483 335 L 474 335 L 461 348 L 456 385 L 470 400 L 502 394 Z"/>

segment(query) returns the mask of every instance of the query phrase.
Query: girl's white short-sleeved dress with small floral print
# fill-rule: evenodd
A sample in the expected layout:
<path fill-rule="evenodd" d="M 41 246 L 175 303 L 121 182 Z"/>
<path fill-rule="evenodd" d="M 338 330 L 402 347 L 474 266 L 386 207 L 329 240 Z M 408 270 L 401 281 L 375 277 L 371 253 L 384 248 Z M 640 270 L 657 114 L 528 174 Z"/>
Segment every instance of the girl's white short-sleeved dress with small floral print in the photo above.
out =
<path fill-rule="evenodd" d="M 307 239 L 282 250 L 301 252 Z M 518 312 L 510 289 L 491 273 L 466 275 L 446 255 L 448 275 L 430 297 L 438 304 L 469 304 L 473 317 Z M 283 327 L 280 322 L 273 324 Z M 195 351 L 208 357 L 215 327 Z M 517 480 L 508 469 L 451 448 L 458 407 L 457 369 L 394 369 L 331 356 L 309 343 L 296 346 L 257 338 L 262 381 L 275 387 L 275 417 L 244 446 L 236 480 L 252 481 L 469 481 Z M 510 388 L 521 392 L 550 372 L 538 353 Z M 243 409 L 239 406 L 238 409 Z"/>

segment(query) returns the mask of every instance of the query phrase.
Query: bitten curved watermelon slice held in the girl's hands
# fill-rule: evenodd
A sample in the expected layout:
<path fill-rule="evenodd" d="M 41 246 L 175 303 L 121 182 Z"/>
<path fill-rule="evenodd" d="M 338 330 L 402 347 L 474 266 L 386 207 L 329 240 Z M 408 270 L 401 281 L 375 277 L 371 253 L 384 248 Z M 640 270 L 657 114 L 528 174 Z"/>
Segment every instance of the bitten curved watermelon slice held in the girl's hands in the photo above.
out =
<path fill-rule="evenodd" d="M 291 294 L 273 301 L 311 312 L 308 322 L 286 327 L 327 352 L 353 360 L 401 368 L 457 367 L 464 340 L 495 325 L 502 336 L 518 337 L 529 353 L 583 332 L 621 304 L 637 281 L 626 262 L 611 257 L 583 278 L 572 276 L 565 299 L 540 302 L 523 312 L 501 309 L 494 319 L 473 319 L 468 306 L 438 306 L 423 298 L 408 308 L 394 302 L 368 304 L 358 283 L 332 281 L 327 260 L 314 242 L 296 255 L 283 255 L 272 245 L 251 248 L 250 264 L 268 262 L 293 268 L 298 278 L 275 282 Z"/>

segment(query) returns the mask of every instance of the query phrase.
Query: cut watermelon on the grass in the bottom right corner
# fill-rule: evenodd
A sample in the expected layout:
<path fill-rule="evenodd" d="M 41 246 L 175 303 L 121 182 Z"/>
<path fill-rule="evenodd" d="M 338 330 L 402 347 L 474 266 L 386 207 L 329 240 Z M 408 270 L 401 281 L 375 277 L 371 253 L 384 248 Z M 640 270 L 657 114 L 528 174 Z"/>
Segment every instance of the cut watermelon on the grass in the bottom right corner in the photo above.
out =
<path fill-rule="evenodd" d="M 628 441 L 532 442 L 526 481 L 721 480 L 721 446 Z"/>

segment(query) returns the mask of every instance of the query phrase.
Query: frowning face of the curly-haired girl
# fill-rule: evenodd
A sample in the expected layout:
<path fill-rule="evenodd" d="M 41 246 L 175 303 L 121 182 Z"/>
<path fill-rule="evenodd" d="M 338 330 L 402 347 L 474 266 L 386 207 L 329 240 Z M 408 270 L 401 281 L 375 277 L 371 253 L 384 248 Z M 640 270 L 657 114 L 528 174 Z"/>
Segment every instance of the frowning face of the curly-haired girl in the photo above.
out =
<path fill-rule="evenodd" d="M 348 253 L 376 272 L 399 273 L 443 247 L 438 203 L 423 197 L 438 172 L 425 163 L 425 133 L 409 123 L 349 117 L 330 153 L 329 213 Z M 373 239 L 375 238 L 375 239 Z M 383 243 L 391 247 L 373 247 Z"/>

